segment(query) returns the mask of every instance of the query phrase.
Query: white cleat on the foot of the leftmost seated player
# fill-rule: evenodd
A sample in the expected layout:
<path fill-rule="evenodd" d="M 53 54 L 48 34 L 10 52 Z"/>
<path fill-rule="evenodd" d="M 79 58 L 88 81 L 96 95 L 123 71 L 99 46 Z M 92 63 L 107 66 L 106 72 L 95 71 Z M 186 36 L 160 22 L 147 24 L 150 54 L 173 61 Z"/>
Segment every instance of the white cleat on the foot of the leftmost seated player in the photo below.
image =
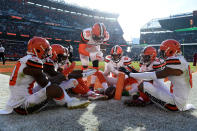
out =
<path fill-rule="evenodd" d="M 79 100 L 77 98 L 72 98 L 70 102 L 67 103 L 68 109 L 85 108 L 90 104 L 88 100 Z"/>

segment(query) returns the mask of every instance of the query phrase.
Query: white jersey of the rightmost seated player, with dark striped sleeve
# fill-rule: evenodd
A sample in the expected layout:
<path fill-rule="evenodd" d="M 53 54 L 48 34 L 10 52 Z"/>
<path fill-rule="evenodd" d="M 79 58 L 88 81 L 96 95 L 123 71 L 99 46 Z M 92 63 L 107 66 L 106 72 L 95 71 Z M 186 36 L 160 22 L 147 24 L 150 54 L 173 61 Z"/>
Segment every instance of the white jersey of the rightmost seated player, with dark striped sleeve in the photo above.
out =
<path fill-rule="evenodd" d="M 168 76 L 173 84 L 173 97 L 179 110 L 184 110 L 189 92 L 192 88 L 192 74 L 190 66 L 182 55 L 167 58 L 166 67 L 183 71 L 180 76 Z"/>

